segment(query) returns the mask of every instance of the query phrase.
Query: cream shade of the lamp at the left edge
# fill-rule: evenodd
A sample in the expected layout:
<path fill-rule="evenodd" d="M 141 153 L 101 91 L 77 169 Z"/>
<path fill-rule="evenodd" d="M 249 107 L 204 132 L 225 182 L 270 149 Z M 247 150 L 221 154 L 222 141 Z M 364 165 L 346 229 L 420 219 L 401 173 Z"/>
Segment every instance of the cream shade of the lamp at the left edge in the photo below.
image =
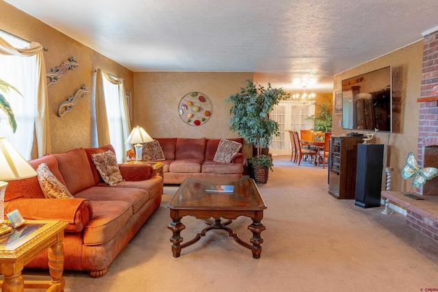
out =
<path fill-rule="evenodd" d="M 4 137 L 0 137 L 0 181 L 36 176 L 36 171 Z"/>

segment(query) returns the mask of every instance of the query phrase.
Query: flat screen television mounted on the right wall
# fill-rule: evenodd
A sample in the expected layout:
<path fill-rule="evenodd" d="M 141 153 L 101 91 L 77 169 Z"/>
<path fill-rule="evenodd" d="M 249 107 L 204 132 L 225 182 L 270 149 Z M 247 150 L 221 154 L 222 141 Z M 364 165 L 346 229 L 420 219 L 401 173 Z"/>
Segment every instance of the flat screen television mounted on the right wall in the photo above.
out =
<path fill-rule="evenodd" d="M 391 66 L 342 80 L 342 129 L 392 132 Z"/>

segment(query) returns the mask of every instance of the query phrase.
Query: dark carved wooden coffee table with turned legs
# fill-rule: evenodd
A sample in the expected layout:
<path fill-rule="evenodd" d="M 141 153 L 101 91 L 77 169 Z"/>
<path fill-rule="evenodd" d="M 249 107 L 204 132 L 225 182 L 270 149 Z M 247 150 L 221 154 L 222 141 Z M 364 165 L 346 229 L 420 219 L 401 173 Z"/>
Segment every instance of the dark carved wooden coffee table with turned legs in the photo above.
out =
<path fill-rule="evenodd" d="M 209 185 L 233 185 L 234 191 L 233 193 L 207 193 L 205 189 Z M 168 228 L 173 233 L 170 242 L 172 242 L 172 254 L 175 258 L 180 256 L 183 248 L 196 243 L 205 236 L 207 231 L 212 229 L 226 230 L 237 243 L 253 252 L 253 258 L 260 258 L 260 245 L 263 243 L 260 233 L 266 229 L 261 224 L 261 219 L 266 205 L 252 178 L 240 180 L 186 178 L 167 207 L 170 209 L 170 217 L 172 217 L 172 223 L 168 225 Z M 194 239 L 182 243 L 183 238 L 180 234 L 185 226 L 181 223 L 181 219 L 187 215 L 202 219 L 209 226 L 198 233 Z M 248 226 L 248 229 L 253 233 L 253 237 L 250 239 L 252 244 L 242 241 L 237 233 L 227 227 L 232 220 L 239 216 L 250 217 L 253 220 L 253 223 Z M 207 221 L 211 217 L 214 218 L 213 223 Z M 221 218 L 226 219 L 227 222 L 222 223 Z"/>

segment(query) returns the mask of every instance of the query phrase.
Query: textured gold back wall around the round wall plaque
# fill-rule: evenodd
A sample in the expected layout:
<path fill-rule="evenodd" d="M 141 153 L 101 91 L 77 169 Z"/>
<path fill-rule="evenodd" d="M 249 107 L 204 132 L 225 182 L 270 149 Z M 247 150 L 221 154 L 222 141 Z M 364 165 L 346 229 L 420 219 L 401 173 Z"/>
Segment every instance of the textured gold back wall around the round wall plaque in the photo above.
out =
<path fill-rule="evenodd" d="M 231 138 L 231 103 L 225 99 L 253 80 L 249 72 L 134 72 L 133 126 L 139 125 L 152 137 Z M 202 92 L 213 103 L 211 118 L 201 126 L 185 124 L 179 117 L 181 98 Z"/>

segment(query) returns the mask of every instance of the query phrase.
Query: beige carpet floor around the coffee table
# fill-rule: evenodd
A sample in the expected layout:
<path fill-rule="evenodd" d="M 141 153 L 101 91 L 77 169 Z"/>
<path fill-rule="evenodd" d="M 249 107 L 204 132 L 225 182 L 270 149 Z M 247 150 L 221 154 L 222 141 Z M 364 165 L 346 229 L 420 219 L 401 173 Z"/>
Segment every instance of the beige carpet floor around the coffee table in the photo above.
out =
<path fill-rule="evenodd" d="M 327 170 L 274 157 L 274 172 L 259 185 L 268 209 L 261 258 L 223 230 L 173 258 L 166 204 L 177 187 L 165 186 L 162 205 L 102 278 L 65 271 L 65 291 L 426 291 L 438 288 L 438 243 L 383 207 L 362 209 L 328 193 Z M 205 228 L 184 217 L 188 241 Z M 251 237 L 250 220 L 231 228 Z M 25 270 L 28 278 L 46 271 Z M 423 289 L 423 290 L 422 290 Z M 432 291 L 432 290 L 430 290 Z"/>

